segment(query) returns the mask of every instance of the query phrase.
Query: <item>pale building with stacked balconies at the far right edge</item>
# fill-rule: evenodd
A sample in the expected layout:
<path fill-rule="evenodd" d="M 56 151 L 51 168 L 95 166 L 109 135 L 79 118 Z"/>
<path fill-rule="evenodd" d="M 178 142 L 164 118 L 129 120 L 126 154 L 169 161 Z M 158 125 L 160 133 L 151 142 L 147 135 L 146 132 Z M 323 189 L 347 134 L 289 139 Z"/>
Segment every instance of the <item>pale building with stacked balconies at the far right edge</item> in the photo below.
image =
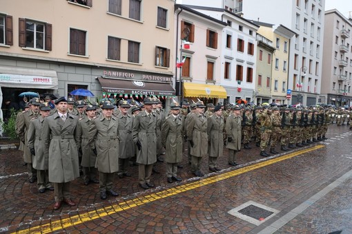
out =
<path fill-rule="evenodd" d="M 352 19 L 338 10 L 325 12 L 322 94 L 326 103 L 351 106 Z"/>

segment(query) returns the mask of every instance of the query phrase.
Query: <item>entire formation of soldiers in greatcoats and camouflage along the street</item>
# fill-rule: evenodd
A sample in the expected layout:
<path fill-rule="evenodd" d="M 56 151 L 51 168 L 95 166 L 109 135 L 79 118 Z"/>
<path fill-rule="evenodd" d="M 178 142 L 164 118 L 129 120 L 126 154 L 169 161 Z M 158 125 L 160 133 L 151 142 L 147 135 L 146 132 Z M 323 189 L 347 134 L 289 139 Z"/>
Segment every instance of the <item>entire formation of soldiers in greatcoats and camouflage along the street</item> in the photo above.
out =
<path fill-rule="evenodd" d="M 205 111 L 205 109 L 207 110 Z M 32 98 L 17 114 L 16 132 L 27 164 L 29 181 L 37 181 L 39 193 L 55 191 L 54 209 L 63 203 L 75 206 L 70 182 L 99 183 L 101 200 L 118 196 L 115 175 L 132 176 L 128 167 L 138 165 L 139 186 L 155 187 L 151 174 L 157 162 L 166 164 L 166 181 L 180 182 L 177 169 L 187 149 L 191 172 L 204 176 L 222 170 L 218 158 L 228 149 L 228 164 L 236 167 L 236 153 L 260 147 L 260 156 L 326 140 L 331 123 L 350 124 L 351 110 L 327 105 L 306 108 L 278 105 L 222 105 L 202 101 L 170 104 L 146 97 L 142 105 L 130 100 L 86 103 L 59 97 L 55 101 Z M 267 151 L 267 149 L 269 149 Z"/>

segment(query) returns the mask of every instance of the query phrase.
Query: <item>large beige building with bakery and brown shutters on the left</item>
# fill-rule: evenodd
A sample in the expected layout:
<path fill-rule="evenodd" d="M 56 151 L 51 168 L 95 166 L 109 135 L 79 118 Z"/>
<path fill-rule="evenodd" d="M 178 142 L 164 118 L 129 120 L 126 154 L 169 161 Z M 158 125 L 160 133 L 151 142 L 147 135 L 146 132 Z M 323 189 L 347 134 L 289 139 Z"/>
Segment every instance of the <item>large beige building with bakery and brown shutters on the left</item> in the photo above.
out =
<path fill-rule="evenodd" d="M 97 98 L 154 95 L 168 104 L 175 96 L 174 3 L 1 1 L 3 98 L 84 88 Z"/>

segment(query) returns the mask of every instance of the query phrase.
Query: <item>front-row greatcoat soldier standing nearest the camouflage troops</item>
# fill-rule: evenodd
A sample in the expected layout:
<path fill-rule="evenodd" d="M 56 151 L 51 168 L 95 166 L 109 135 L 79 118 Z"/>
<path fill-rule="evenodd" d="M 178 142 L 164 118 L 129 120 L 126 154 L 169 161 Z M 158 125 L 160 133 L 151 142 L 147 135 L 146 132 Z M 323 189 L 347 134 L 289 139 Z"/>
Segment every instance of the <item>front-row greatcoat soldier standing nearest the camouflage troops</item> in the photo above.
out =
<path fill-rule="evenodd" d="M 238 165 L 235 162 L 235 154 L 241 150 L 242 118 L 241 107 L 233 105 L 231 109 L 232 114 L 226 119 L 226 148 L 228 149 L 228 164 L 235 167 Z"/>

